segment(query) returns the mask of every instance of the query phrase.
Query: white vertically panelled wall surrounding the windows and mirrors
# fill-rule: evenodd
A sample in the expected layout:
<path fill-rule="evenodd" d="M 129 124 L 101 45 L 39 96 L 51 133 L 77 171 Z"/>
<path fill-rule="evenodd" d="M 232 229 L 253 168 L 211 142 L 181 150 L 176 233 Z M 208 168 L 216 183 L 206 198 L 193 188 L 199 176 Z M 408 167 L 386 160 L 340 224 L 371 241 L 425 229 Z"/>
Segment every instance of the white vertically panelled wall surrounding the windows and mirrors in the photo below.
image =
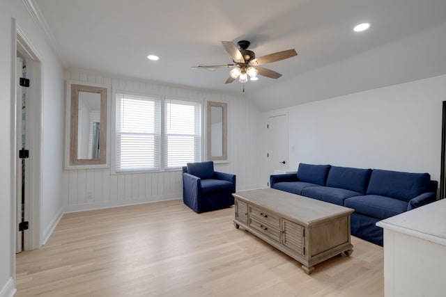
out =
<path fill-rule="evenodd" d="M 228 103 L 229 163 L 215 163 L 215 170 L 237 175 L 237 189 L 259 186 L 256 171 L 256 126 L 259 111 L 242 95 L 222 95 L 201 90 L 165 86 L 149 81 L 111 77 L 87 70 L 66 72 L 66 80 L 105 83 L 116 90 L 148 95 L 171 95 Z M 206 105 L 203 106 L 206 109 Z M 113 112 L 111 116 L 113 120 Z M 111 131 L 111 134 L 113 132 Z M 110 150 L 113 152 L 113 150 Z M 113 159 L 111 159 L 113 160 Z M 183 197 L 181 172 L 149 172 L 116 175 L 112 168 L 66 170 L 63 174 L 65 211 L 79 211 Z"/>

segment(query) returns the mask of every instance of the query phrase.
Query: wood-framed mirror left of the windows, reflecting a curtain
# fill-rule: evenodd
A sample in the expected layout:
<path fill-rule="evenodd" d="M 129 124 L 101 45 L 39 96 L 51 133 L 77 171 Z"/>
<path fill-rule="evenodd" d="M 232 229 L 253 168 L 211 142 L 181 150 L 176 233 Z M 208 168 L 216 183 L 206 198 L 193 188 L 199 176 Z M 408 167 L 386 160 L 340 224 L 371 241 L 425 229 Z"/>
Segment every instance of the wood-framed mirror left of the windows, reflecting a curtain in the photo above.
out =
<path fill-rule="evenodd" d="M 107 158 L 109 86 L 69 81 L 66 168 L 104 168 Z"/>

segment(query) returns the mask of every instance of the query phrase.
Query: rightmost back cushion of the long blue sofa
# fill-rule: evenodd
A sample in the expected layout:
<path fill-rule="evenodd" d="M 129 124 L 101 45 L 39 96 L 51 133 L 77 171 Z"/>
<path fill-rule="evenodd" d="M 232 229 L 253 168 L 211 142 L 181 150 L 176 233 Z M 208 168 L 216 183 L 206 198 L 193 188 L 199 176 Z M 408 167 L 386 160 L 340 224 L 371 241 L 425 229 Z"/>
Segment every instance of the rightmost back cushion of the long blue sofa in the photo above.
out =
<path fill-rule="evenodd" d="M 429 191 L 429 173 L 409 173 L 374 169 L 371 172 L 367 195 L 381 195 L 409 201 Z"/>

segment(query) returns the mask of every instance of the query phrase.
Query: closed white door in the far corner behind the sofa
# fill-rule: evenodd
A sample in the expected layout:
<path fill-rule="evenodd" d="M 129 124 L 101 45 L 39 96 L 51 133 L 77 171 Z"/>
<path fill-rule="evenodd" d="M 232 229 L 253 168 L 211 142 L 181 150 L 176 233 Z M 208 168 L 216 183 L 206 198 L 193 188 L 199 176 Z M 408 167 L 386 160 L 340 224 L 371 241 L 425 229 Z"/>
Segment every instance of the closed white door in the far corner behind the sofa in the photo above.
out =
<path fill-rule="evenodd" d="M 288 168 L 286 148 L 288 127 L 286 115 L 268 118 L 268 179 L 274 170 Z M 269 181 L 268 181 L 269 185 Z"/>

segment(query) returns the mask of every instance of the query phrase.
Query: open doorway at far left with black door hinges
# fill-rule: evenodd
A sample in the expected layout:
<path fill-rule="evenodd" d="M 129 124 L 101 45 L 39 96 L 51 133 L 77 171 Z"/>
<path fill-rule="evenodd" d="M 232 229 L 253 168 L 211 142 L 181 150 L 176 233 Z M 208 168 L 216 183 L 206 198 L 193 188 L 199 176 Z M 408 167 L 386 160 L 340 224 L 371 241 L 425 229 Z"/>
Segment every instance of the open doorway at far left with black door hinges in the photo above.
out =
<path fill-rule="evenodd" d="M 16 25 L 16 252 L 40 248 L 41 63 Z"/>

